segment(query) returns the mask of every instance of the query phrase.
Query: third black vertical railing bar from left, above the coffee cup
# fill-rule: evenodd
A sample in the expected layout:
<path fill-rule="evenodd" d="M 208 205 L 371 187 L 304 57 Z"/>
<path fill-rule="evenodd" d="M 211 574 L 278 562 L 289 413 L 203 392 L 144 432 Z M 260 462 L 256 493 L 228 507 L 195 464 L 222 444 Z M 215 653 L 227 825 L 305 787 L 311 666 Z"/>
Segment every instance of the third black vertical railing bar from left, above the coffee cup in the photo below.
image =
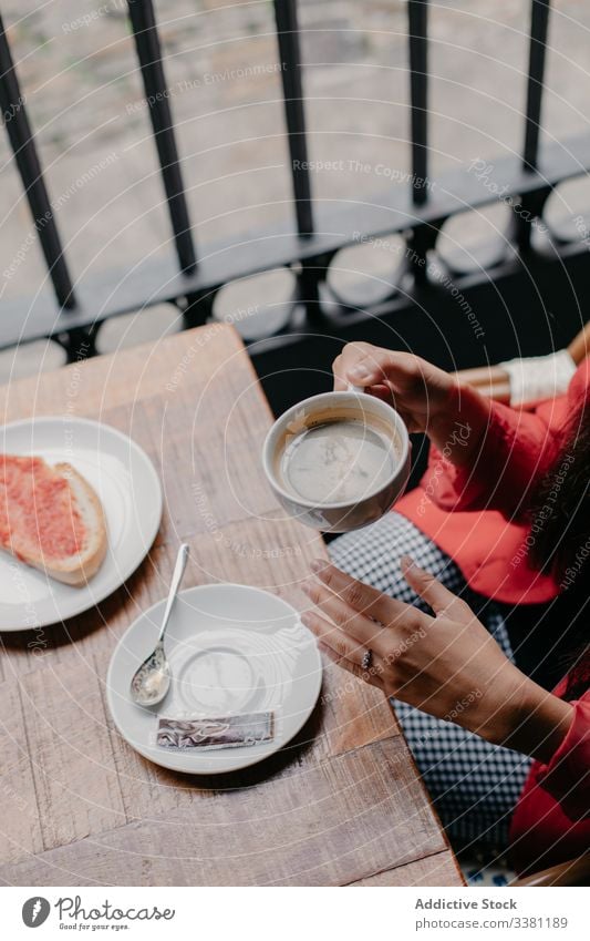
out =
<path fill-rule="evenodd" d="M 308 166 L 306 114 L 301 81 L 301 52 L 296 0 L 275 0 L 275 19 L 281 61 L 284 114 L 289 134 L 297 227 L 302 238 L 313 233 L 313 209 Z"/>

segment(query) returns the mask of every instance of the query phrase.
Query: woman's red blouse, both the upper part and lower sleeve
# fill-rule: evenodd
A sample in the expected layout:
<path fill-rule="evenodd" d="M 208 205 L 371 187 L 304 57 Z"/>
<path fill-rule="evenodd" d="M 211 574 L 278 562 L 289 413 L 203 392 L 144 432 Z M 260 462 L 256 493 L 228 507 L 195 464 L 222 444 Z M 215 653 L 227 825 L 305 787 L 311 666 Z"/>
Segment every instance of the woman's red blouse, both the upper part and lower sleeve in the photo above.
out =
<path fill-rule="evenodd" d="M 475 591 L 509 603 L 544 602 L 559 586 L 527 564 L 527 494 L 559 453 L 566 419 L 590 395 L 590 360 L 568 393 L 528 413 L 498 403 L 475 469 L 457 469 L 433 449 L 420 487 L 396 510 L 459 565 Z M 459 430 L 460 433 L 460 430 Z M 568 457 L 563 469 L 567 473 Z M 586 577 L 586 575 L 584 575 Z M 557 696 L 566 692 L 563 681 Z M 590 848 L 590 691 L 575 707 L 570 728 L 547 765 L 534 761 L 510 830 L 514 861 L 532 871 Z"/>

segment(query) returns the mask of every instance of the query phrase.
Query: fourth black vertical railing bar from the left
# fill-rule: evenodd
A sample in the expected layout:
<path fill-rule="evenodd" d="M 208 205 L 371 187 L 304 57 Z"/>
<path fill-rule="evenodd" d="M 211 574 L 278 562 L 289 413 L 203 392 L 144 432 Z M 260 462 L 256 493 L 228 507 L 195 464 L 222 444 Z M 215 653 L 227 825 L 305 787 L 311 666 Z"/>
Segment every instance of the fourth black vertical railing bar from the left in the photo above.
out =
<path fill-rule="evenodd" d="M 412 193 L 415 205 L 427 198 L 428 174 L 428 3 L 408 0 L 410 106 L 412 135 Z"/>

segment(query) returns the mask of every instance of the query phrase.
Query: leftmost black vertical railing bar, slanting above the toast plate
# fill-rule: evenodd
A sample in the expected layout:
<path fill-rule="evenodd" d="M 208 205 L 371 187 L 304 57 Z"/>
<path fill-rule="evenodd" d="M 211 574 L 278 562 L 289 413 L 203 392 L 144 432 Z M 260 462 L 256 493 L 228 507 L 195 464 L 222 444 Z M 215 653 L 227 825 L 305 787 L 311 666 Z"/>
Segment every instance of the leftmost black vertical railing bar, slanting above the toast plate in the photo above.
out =
<path fill-rule="evenodd" d="M 75 306 L 72 279 L 50 203 L 24 99 L 0 16 L 0 108 L 60 307 Z"/>

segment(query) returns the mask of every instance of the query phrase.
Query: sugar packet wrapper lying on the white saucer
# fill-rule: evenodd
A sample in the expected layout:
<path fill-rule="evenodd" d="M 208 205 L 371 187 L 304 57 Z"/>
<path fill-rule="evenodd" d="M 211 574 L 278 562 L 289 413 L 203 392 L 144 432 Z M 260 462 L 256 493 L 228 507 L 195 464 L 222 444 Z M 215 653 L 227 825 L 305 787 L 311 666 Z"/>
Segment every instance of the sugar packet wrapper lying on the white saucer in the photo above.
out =
<path fill-rule="evenodd" d="M 199 719 L 158 719 L 156 745 L 161 748 L 201 751 L 240 748 L 270 741 L 275 737 L 275 713 Z"/>

